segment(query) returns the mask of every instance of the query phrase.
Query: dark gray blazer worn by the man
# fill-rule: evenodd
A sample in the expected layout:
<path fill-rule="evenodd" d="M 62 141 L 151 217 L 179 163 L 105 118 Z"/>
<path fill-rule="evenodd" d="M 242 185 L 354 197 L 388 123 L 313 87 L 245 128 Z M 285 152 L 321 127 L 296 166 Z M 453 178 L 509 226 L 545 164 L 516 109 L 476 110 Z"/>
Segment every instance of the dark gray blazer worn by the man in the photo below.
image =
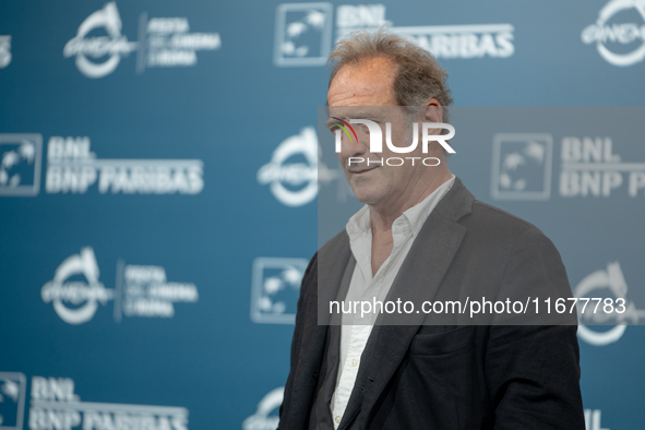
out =
<path fill-rule="evenodd" d="M 309 264 L 278 429 L 333 429 L 329 402 L 339 326 L 319 325 L 319 294 L 323 303 L 343 298 L 354 264 L 345 231 Z M 540 230 L 476 201 L 457 178 L 421 228 L 387 298 L 410 295 L 542 299 L 568 297 L 571 289 L 560 254 Z M 427 325 L 428 315 L 413 318 L 408 325 L 385 320 L 372 330 L 341 430 L 585 428 L 575 323 Z"/>

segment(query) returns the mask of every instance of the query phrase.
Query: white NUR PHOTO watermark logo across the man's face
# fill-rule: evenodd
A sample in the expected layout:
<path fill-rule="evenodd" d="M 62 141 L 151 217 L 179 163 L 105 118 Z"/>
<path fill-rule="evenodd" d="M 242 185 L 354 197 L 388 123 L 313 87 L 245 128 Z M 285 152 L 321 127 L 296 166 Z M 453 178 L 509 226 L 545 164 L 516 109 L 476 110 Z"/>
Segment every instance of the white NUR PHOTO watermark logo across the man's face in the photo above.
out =
<path fill-rule="evenodd" d="M 345 132 L 345 134 L 347 135 L 347 138 L 349 139 L 350 142 L 354 142 L 356 140 L 356 142 L 358 142 L 358 135 L 356 134 L 356 131 L 354 130 L 354 128 L 351 127 L 351 124 L 363 124 L 368 128 L 369 130 L 369 134 L 370 134 L 370 153 L 372 154 L 378 154 L 378 153 L 382 153 L 383 152 L 383 132 L 381 130 L 381 127 L 369 119 L 350 119 L 349 122 L 337 118 L 337 117 L 332 117 L 333 120 L 336 120 L 338 122 L 334 122 L 334 121 L 329 121 L 327 126 L 330 127 L 330 130 L 334 133 L 335 135 L 335 146 L 336 146 L 336 153 L 339 153 L 342 151 L 342 143 L 343 143 L 343 132 Z M 349 129 L 349 130 L 347 130 Z M 445 129 L 449 130 L 447 134 L 429 134 L 428 132 L 431 129 Z M 447 153 L 450 154 L 455 154 L 455 151 L 447 144 L 447 140 L 454 138 L 455 135 L 455 128 L 452 127 L 451 124 L 446 124 L 443 122 L 423 122 L 421 124 L 421 130 L 422 130 L 422 136 L 421 136 L 421 148 L 423 154 L 428 153 L 428 145 L 430 142 L 438 142 Z M 350 133 L 351 131 L 351 133 Z M 392 123 L 391 122 L 386 122 L 385 123 L 385 145 L 387 145 L 387 148 L 390 151 L 392 151 L 393 153 L 396 154 L 409 154 L 413 151 L 415 151 L 417 148 L 417 146 L 419 145 L 419 123 L 418 122 L 414 122 L 413 123 L 413 143 L 409 144 L 409 146 L 394 146 L 394 144 L 392 143 Z M 348 157 L 347 159 L 347 166 L 351 166 L 353 163 L 355 164 L 361 164 L 361 163 L 367 163 L 367 166 L 369 167 L 370 165 L 380 165 L 383 166 L 384 164 L 387 166 L 403 166 L 404 164 L 406 164 L 406 160 L 409 160 L 410 164 L 414 166 L 415 162 L 420 159 L 420 163 L 423 164 L 423 166 L 438 166 L 440 160 L 437 157 L 426 157 L 422 158 L 421 157 L 386 157 L 386 158 L 381 158 L 378 160 L 374 159 L 370 159 L 370 158 L 362 158 L 362 157 Z"/>

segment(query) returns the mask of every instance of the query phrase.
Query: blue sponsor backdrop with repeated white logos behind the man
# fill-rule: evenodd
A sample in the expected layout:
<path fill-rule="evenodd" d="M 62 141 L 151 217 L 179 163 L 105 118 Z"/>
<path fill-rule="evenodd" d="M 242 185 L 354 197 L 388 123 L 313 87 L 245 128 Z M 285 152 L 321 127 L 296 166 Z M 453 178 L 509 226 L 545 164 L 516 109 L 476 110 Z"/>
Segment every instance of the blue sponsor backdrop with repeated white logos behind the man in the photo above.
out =
<path fill-rule="evenodd" d="M 645 100 L 643 0 L 0 3 L 0 429 L 275 428 L 318 194 L 353 199 L 316 139 L 326 57 L 383 25 L 458 106 Z M 645 116 L 620 109 L 456 126 L 449 164 L 637 324 Z M 588 430 L 645 426 L 620 322 L 578 331 Z"/>

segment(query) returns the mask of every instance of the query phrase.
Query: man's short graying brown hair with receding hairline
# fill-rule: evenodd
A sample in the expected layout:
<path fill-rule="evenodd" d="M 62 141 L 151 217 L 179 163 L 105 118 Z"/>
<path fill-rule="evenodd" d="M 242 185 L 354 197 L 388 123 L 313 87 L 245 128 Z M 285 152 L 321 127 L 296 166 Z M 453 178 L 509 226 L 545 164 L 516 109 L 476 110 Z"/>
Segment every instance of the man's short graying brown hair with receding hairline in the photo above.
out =
<path fill-rule="evenodd" d="M 333 67 L 330 85 L 344 65 L 379 57 L 396 64 L 393 91 L 399 106 L 420 108 L 434 98 L 443 107 L 443 122 L 447 122 L 447 106 L 453 99 L 445 70 L 428 50 L 384 28 L 375 33 L 355 32 L 336 44 L 329 59 Z M 418 112 L 407 110 L 410 115 Z"/>

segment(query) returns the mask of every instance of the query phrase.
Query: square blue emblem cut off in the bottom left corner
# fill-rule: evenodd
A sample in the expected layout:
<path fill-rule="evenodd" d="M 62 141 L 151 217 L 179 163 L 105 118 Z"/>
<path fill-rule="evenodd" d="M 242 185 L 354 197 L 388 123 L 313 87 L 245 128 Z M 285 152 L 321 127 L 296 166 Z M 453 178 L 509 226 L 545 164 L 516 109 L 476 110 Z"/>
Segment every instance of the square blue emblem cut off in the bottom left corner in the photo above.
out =
<path fill-rule="evenodd" d="M 0 372 L 0 430 L 22 430 L 27 379 L 22 373 Z"/>

